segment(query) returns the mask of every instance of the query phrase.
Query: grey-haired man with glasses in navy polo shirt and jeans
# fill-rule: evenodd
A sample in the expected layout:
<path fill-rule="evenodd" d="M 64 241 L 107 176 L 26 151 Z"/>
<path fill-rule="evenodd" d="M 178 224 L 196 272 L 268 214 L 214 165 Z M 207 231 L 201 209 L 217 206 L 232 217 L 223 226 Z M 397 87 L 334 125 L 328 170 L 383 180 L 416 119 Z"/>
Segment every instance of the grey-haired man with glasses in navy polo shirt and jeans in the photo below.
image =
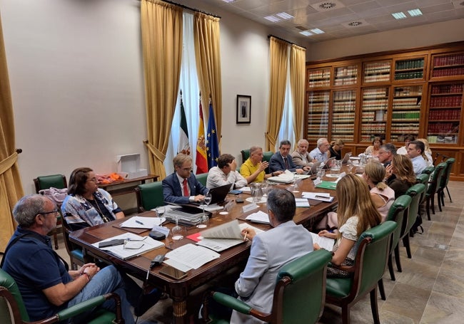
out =
<path fill-rule="evenodd" d="M 136 283 L 121 276 L 114 266 L 100 269 L 95 263 L 86 263 L 79 270 L 68 271 L 66 262 L 51 248 L 47 234 L 56 227 L 59 216 L 54 202 L 31 194 L 19 200 L 13 214 L 19 226 L 6 247 L 2 268 L 16 281 L 32 321 L 105 293 L 117 293 L 124 320 L 134 323 L 129 303 L 138 305 L 141 288 Z M 150 297 L 149 305 L 154 305 L 158 298 Z M 102 307 L 114 310 L 114 301 L 106 301 Z M 73 318 L 73 323 L 86 323 L 94 311 Z"/>

